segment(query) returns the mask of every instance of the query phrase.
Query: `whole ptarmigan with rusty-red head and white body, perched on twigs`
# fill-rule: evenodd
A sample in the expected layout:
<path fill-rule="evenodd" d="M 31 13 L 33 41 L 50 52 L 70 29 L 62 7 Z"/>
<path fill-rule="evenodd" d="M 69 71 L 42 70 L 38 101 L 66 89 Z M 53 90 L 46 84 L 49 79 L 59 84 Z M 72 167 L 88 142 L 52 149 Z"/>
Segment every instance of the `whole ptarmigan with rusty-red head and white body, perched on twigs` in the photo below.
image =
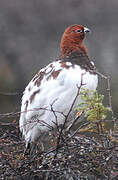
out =
<path fill-rule="evenodd" d="M 83 45 L 85 35 L 89 31 L 81 25 L 69 26 L 61 39 L 60 57 L 41 69 L 25 88 L 19 126 L 26 147 L 40 140 L 42 134 L 49 131 L 50 127 L 64 123 L 65 118 L 59 112 L 65 115 L 68 113 L 77 95 L 77 86 L 80 87 L 81 77 L 84 88 L 97 88 L 95 66 L 88 58 L 87 48 Z M 74 107 L 80 101 L 78 96 Z M 55 113 L 51 111 L 51 107 Z"/>

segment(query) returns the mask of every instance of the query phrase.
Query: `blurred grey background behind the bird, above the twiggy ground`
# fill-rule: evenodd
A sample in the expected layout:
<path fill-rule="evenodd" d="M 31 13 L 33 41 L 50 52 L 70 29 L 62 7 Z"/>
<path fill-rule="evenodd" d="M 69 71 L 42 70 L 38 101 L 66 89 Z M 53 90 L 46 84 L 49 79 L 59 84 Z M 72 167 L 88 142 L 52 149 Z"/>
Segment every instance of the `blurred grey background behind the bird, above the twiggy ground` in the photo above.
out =
<path fill-rule="evenodd" d="M 118 115 L 118 0 L 0 0 L 0 114 L 20 110 L 25 86 L 59 55 L 71 24 L 91 29 L 85 44 L 99 71 L 111 77 Z M 99 92 L 106 94 L 103 80 Z"/>

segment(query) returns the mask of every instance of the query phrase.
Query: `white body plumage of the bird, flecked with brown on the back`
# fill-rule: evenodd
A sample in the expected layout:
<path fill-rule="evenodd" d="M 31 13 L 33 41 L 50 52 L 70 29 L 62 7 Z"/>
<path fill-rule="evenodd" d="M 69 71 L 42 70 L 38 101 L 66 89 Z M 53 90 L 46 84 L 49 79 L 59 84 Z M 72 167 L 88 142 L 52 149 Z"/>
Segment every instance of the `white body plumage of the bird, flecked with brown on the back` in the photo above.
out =
<path fill-rule="evenodd" d="M 55 61 L 45 68 L 31 80 L 22 97 L 20 130 L 23 133 L 26 144 L 35 142 L 40 135 L 48 131 L 48 126 L 55 126 L 55 115 L 51 110 L 67 114 L 77 91 L 81 84 L 83 74 L 84 88 L 97 88 L 98 77 L 91 74 L 79 65 L 71 62 Z M 74 106 L 80 103 L 78 97 Z M 43 109 L 40 109 L 43 108 Z M 48 110 L 47 110 L 48 109 Z M 64 123 L 64 116 L 56 113 L 58 124 Z"/>

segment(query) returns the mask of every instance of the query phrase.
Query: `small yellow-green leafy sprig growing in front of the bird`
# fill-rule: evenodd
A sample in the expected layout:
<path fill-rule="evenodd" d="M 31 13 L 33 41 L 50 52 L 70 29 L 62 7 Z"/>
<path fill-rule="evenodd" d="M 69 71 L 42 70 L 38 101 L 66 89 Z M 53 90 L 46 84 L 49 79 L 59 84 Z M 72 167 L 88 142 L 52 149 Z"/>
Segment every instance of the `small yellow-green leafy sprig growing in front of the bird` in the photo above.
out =
<path fill-rule="evenodd" d="M 106 118 L 110 108 L 103 105 L 104 95 L 98 94 L 97 90 L 82 88 L 80 97 L 82 102 L 78 105 L 77 110 L 86 111 L 87 120 L 97 122 Z"/>

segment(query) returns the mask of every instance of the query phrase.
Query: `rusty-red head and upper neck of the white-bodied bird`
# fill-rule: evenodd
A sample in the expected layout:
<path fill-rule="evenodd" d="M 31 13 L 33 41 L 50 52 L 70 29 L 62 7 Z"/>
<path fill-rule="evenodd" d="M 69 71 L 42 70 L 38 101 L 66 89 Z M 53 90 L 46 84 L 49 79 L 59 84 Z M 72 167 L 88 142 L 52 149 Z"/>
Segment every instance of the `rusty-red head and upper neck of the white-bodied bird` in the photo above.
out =
<path fill-rule="evenodd" d="M 88 28 L 78 24 L 69 26 L 64 31 L 61 39 L 61 56 L 65 57 L 74 51 L 80 51 L 81 53 L 87 54 L 87 49 L 83 46 L 83 40 L 88 32 L 90 32 Z"/>

